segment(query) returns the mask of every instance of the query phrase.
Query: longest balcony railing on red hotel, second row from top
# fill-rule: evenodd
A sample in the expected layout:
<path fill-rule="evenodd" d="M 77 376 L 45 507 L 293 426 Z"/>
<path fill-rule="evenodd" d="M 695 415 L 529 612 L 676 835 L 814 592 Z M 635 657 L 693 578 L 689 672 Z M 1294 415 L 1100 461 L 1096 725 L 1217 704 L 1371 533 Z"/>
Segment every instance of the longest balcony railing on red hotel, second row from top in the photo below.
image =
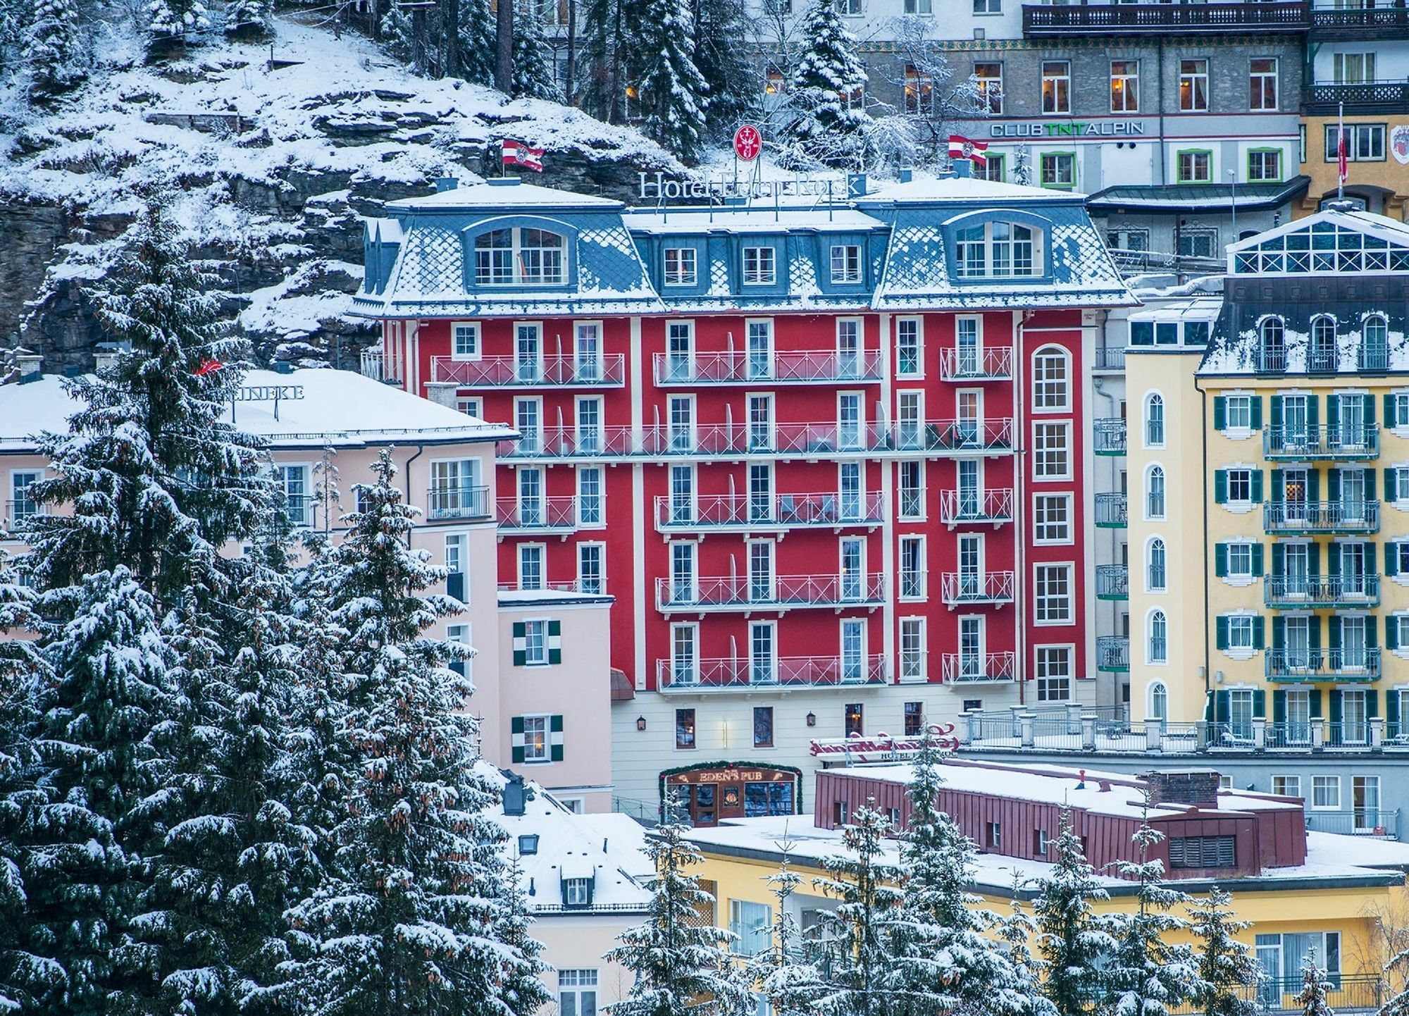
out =
<path fill-rule="evenodd" d="M 759 430 L 743 423 L 630 427 L 544 427 L 499 445 L 500 458 L 675 458 L 721 455 L 992 455 L 1013 450 L 1013 421 L 927 420 L 917 424 L 779 423 Z"/>

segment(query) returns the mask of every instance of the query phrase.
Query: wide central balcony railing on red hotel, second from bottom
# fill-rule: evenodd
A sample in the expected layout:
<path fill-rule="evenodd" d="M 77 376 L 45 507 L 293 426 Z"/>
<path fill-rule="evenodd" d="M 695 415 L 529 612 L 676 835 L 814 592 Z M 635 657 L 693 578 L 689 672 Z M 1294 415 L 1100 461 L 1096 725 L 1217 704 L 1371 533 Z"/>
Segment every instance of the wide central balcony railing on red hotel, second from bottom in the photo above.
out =
<path fill-rule="evenodd" d="M 788 610 L 793 607 L 878 607 L 885 575 L 779 575 L 655 581 L 658 610 Z"/>

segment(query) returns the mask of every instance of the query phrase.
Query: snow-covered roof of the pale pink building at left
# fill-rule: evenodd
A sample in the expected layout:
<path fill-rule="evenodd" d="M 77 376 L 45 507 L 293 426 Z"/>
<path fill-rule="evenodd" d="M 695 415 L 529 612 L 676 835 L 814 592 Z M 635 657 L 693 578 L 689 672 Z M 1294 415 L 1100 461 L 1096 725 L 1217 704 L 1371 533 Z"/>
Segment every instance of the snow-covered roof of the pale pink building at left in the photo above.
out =
<path fill-rule="evenodd" d="M 232 414 L 225 419 L 265 438 L 272 448 L 468 444 L 517 437 L 511 427 L 485 423 L 352 371 L 248 371 L 240 388 Z M 282 396 L 278 419 L 273 389 Z M 63 379 L 55 375 L 0 385 L 0 451 L 34 451 L 34 437 L 66 431 L 77 407 Z"/>

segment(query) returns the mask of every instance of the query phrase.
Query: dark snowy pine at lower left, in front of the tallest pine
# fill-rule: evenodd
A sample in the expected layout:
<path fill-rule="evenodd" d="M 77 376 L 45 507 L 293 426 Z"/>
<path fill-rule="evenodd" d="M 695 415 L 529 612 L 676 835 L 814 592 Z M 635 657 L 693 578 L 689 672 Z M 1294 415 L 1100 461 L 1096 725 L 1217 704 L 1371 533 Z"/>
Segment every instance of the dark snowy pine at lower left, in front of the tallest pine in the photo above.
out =
<path fill-rule="evenodd" d="M 28 800 L 0 812 L 20 848 L 20 948 L 42 981 L 30 985 L 32 1009 L 148 1012 L 155 969 L 132 948 L 132 919 L 154 830 L 137 806 L 162 774 L 149 738 L 172 709 L 175 654 L 156 602 L 124 566 L 44 592 L 39 606 L 68 619 L 44 645 L 52 676 L 31 733 L 42 772 Z"/>

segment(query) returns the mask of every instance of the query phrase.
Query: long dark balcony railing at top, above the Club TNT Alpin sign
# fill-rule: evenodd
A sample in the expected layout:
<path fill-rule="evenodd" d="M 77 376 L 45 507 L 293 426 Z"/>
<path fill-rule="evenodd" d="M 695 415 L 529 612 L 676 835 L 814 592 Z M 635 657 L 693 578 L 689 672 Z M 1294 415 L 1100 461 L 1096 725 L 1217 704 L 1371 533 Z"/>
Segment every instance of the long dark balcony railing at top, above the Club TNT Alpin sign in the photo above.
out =
<path fill-rule="evenodd" d="M 1143 35 L 1295 32 L 1305 3 L 1023 4 L 1023 35 Z"/>

